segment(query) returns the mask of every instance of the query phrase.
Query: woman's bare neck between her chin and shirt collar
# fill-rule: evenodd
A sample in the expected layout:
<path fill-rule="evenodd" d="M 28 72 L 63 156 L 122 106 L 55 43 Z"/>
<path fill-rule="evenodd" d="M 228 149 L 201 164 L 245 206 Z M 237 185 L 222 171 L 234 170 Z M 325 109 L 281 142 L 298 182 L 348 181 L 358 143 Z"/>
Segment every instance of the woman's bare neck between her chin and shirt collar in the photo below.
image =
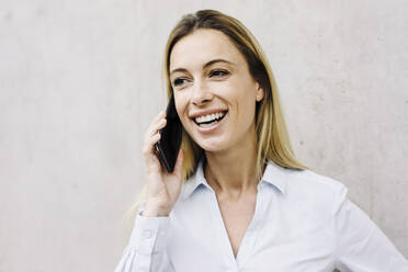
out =
<path fill-rule="evenodd" d="M 205 151 L 204 174 L 218 196 L 239 200 L 248 193 L 257 192 L 257 144 L 252 139 L 228 150 Z"/>

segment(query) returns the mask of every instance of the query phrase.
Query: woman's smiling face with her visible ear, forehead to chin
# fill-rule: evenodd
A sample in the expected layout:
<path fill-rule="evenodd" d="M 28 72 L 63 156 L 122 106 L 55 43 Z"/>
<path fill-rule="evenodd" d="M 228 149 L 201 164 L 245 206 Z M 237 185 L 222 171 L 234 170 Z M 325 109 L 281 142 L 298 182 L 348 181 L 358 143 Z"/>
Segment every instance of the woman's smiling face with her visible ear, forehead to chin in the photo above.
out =
<path fill-rule="evenodd" d="M 204 150 L 254 140 L 256 102 L 263 90 L 224 33 L 197 30 L 181 38 L 170 55 L 170 80 L 183 127 Z"/>

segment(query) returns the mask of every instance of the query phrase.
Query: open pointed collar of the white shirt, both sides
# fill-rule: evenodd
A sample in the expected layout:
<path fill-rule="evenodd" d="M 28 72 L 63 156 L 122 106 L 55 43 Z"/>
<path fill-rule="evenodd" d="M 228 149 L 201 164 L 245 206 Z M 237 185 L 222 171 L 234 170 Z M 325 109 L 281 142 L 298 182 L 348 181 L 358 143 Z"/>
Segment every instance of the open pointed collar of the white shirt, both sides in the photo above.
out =
<path fill-rule="evenodd" d="M 285 169 L 271 160 L 268 161 L 260 183 L 271 184 L 284 194 L 286 191 Z M 199 161 L 195 173 L 185 181 L 182 191 L 183 200 L 188 199 L 200 185 L 211 189 L 204 177 L 204 159 Z"/>

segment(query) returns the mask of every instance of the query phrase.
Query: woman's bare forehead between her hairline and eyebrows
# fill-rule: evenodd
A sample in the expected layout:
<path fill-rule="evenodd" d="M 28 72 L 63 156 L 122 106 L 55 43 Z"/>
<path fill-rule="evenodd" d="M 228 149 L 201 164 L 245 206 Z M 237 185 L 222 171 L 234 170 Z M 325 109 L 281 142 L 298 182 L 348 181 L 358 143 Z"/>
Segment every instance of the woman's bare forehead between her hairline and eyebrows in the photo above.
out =
<path fill-rule="evenodd" d="M 175 43 L 170 55 L 170 70 L 204 65 L 217 58 L 236 64 L 245 63 L 242 54 L 223 32 L 196 30 Z"/>

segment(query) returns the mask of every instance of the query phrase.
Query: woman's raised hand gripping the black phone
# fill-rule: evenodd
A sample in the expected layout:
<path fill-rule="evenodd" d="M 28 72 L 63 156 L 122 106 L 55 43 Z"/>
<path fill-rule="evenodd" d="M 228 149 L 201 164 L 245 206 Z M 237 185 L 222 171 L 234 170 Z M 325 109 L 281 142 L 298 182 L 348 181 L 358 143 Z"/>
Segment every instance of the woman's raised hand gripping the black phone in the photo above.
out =
<path fill-rule="evenodd" d="M 147 199 L 144 216 L 168 216 L 179 197 L 182 186 L 183 150 L 180 148 L 174 170 L 168 173 L 155 155 L 155 144 L 160 139 L 159 129 L 167 124 L 166 111 L 160 112 L 145 134 L 143 156 L 146 167 Z"/>

